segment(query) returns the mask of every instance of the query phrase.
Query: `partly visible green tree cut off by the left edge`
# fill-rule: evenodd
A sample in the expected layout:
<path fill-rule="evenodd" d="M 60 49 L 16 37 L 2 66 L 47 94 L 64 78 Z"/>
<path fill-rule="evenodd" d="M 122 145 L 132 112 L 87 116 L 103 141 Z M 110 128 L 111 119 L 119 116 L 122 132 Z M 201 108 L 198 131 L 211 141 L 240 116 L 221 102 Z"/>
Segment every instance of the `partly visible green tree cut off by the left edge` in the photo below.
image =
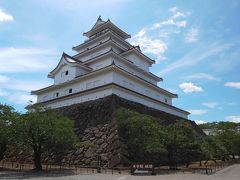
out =
<path fill-rule="evenodd" d="M 15 142 L 15 126 L 20 115 L 13 107 L 0 104 L 0 161 L 9 146 Z"/>

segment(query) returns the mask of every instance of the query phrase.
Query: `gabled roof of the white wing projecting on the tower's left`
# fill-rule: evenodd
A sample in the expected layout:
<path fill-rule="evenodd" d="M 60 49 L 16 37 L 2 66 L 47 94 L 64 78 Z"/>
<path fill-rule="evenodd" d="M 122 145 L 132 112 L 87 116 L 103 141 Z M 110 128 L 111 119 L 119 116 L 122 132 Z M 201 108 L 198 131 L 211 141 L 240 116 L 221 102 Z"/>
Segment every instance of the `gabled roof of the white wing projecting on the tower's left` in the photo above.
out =
<path fill-rule="evenodd" d="M 63 61 L 65 61 L 65 63 L 67 63 L 68 65 L 71 65 L 71 66 L 78 66 L 78 67 L 81 67 L 85 70 L 88 70 L 88 71 L 91 71 L 92 68 L 84 65 L 82 63 L 82 61 L 66 54 L 65 52 L 63 52 L 62 54 L 62 57 L 58 63 L 58 65 L 48 74 L 48 77 L 52 78 L 54 76 L 54 74 L 63 66 L 64 63 L 62 63 Z"/>

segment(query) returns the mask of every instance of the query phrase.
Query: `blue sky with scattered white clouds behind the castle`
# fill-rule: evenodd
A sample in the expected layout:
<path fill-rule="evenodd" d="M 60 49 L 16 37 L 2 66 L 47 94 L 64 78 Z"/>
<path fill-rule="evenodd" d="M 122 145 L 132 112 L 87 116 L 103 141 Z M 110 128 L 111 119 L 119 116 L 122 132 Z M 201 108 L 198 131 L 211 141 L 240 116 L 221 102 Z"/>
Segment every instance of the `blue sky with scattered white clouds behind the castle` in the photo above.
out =
<path fill-rule="evenodd" d="M 0 0 L 0 102 L 24 112 L 99 15 L 157 61 L 159 86 L 190 119 L 240 121 L 239 0 Z"/>

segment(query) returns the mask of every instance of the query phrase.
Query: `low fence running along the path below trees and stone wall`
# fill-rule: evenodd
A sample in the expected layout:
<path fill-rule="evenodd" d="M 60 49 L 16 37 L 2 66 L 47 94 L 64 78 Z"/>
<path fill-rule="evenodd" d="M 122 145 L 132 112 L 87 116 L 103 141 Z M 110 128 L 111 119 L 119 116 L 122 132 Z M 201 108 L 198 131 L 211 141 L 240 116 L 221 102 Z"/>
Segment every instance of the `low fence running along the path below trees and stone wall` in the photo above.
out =
<path fill-rule="evenodd" d="M 237 163 L 237 161 L 227 161 L 227 162 L 216 162 L 214 164 L 210 165 L 202 165 L 199 166 L 199 164 L 191 164 L 188 168 L 179 166 L 177 170 L 172 171 L 169 170 L 168 166 L 160 166 L 155 168 L 156 174 L 162 174 L 162 173 L 174 173 L 174 172 L 190 172 L 190 173 L 201 173 L 201 174 L 212 174 L 218 170 L 223 169 L 226 166 L 229 166 L 233 163 Z M 238 162 L 239 163 L 239 162 Z M 0 162 L 0 168 L 5 169 L 12 169 L 17 171 L 24 171 L 24 170 L 31 170 L 34 168 L 33 164 L 27 164 L 27 163 L 17 163 L 17 162 L 7 162 L 7 161 L 1 161 Z M 43 164 L 42 165 L 43 170 L 46 172 L 54 172 L 54 171 L 60 171 L 60 172 L 71 172 L 73 174 L 95 174 L 99 173 L 98 167 L 94 166 L 73 166 L 73 165 L 56 165 L 56 164 Z M 105 174 L 130 174 L 130 168 L 101 168 L 101 173 Z"/>

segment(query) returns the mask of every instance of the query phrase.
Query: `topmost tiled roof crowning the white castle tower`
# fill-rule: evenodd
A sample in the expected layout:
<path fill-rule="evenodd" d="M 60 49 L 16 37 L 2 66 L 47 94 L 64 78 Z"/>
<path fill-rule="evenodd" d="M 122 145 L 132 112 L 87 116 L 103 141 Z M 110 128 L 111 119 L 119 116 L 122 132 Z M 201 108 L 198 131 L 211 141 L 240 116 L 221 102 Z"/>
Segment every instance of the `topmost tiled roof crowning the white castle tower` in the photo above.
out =
<path fill-rule="evenodd" d="M 83 33 L 84 36 L 91 37 L 94 34 L 101 32 L 106 29 L 112 29 L 114 32 L 116 32 L 119 36 L 121 36 L 124 39 L 130 38 L 131 36 L 118 28 L 115 24 L 113 24 L 109 19 L 105 22 L 101 19 L 101 17 L 98 18 L 95 25 L 91 28 L 90 31 Z"/>

